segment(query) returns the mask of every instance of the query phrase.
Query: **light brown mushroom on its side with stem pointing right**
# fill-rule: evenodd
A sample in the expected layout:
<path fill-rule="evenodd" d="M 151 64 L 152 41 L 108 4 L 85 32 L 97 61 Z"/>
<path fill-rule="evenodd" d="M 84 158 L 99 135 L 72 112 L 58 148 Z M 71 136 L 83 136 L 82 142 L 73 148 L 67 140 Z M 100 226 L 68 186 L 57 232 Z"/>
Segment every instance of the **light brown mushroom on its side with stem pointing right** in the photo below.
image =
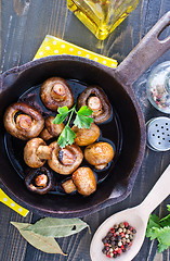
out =
<path fill-rule="evenodd" d="M 52 149 L 41 138 L 30 139 L 24 148 L 24 161 L 30 167 L 40 167 L 51 158 Z"/>

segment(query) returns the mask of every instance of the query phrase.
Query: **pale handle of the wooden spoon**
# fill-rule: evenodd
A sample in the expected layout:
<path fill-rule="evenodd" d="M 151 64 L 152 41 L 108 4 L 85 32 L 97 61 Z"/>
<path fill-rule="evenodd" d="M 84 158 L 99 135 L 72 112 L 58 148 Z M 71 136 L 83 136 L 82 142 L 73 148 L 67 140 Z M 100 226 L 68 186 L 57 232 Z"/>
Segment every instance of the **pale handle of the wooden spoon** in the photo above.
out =
<path fill-rule="evenodd" d="M 170 195 L 170 164 L 159 177 L 153 189 L 140 204 L 147 216 Z"/>

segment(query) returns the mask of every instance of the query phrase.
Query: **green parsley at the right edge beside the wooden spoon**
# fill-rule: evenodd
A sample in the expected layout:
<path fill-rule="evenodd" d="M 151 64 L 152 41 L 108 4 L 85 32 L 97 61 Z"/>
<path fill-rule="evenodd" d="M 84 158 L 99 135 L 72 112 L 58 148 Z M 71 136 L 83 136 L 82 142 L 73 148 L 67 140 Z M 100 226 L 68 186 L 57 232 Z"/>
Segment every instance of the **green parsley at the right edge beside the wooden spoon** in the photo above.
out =
<path fill-rule="evenodd" d="M 170 212 L 170 204 L 167 206 Z M 156 214 L 149 216 L 146 237 L 151 237 L 151 240 L 158 240 L 158 252 L 162 252 L 170 247 L 170 214 L 159 220 Z"/>

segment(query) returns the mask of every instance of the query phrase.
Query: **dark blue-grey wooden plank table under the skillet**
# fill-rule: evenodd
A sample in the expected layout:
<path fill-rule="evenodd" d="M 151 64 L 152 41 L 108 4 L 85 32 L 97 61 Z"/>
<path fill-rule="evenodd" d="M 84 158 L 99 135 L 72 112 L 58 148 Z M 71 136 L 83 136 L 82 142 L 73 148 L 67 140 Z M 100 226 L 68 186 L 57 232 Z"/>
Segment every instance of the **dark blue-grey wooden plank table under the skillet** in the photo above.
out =
<path fill-rule="evenodd" d="M 66 0 L 0 0 L 0 3 L 1 72 L 30 61 L 47 34 L 117 59 L 120 63 L 152 26 L 170 10 L 170 0 L 141 0 L 136 10 L 105 41 L 99 41 L 68 11 Z M 170 35 L 170 28 L 165 30 L 162 37 L 168 35 Z M 167 60 L 170 60 L 170 50 L 152 67 Z M 146 97 L 145 85 L 152 67 L 133 85 L 146 122 L 154 116 L 164 115 L 149 104 Z M 83 221 L 91 226 L 92 235 L 88 233 L 88 229 L 84 229 L 75 236 L 58 240 L 63 251 L 68 253 L 67 257 L 48 254 L 35 249 L 10 225 L 10 221 L 34 223 L 42 216 L 29 212 L 24 219 L 1 203 L 0 260 L 90 261 L 89 247 L 99 225 L 113 213 L 139 204 L 169 163 L 170 152 L 154 152 L 146 148 L 143 164 L 131 195 L 120 203 L 83 217 Z M 167 214 L 167 203 L 170 203 L 170 198 L 165 200 L 154 212 L 159 216 L 164 216 Z M 157 241 L 145 239 L 134 261 L 170 260 L 169 250 L 158 254 L 156 249 Z"/>

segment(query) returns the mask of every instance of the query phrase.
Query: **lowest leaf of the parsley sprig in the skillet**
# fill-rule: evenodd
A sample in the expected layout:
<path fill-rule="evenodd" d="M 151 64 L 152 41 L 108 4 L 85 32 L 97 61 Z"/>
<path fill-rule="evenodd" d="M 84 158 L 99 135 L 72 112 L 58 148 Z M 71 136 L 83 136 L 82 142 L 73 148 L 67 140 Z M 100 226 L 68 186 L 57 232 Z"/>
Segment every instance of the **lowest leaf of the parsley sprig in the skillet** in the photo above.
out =
<path fill-rule="evenodd" d="M 67 145 L 74 144 L 75 138 L 76 134 L 69 126 L 66 125 L 57 139 L 57 144 L 61 148 L 64 148 Z"/>

